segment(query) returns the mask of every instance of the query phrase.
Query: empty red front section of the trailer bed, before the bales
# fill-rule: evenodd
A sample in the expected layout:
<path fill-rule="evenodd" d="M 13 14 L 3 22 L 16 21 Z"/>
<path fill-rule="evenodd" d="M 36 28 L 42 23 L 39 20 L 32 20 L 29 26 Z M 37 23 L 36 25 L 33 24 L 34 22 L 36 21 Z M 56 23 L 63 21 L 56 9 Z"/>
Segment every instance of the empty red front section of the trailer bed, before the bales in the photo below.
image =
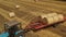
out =
<path fill-rule="evenodd" d="M 30 25 L 28 25 L 26 28 L 30 28 L 30 29 L 40 29 L 40 28 L 46 27 L 46 26 L 47 26 L 46 23 L 35 22 L 35 23 L 31 23 Z"/>

